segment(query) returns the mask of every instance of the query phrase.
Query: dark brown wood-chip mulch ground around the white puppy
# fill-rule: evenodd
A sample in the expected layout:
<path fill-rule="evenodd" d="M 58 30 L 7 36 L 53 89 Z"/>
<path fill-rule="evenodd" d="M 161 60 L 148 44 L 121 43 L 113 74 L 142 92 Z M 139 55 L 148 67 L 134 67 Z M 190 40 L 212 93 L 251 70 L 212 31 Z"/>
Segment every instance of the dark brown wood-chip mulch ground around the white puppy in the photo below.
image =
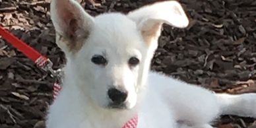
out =
<path fill-rule="evenodd" d="M 54 69 L 65 65 L 55 45 L 50 0 L 0 0 L 0 23 L 47 55 Z M 127 13 L 153 0 L 80 0 L 91 15 Z M 164 25 L 152 70 L 215 92 L 256 92 L 256 1 L 180 0 L 191 23 L 186 29 Z M 54 79 L 0 38 L 0 127 L 43 128 L 53 101 Z M 255 108 L 256 109 L 256 108 Z M 256 120 L 224 115 L 220 128 L 256 127 Z"/>

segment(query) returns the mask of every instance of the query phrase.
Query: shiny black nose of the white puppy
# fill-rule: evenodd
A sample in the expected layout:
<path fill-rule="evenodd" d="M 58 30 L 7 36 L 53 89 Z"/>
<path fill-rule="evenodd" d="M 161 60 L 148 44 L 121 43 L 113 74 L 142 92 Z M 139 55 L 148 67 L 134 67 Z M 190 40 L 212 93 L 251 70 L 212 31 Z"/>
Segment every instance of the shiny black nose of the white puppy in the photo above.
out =
<path fill-rule="evenodd" d="M 110 88 L 108 90 L 108 97 L 112 100 L 113 104 L 119 105 L 125 102 L 127 98 L 127 92 L 117 90 L 116 88 Z"/>

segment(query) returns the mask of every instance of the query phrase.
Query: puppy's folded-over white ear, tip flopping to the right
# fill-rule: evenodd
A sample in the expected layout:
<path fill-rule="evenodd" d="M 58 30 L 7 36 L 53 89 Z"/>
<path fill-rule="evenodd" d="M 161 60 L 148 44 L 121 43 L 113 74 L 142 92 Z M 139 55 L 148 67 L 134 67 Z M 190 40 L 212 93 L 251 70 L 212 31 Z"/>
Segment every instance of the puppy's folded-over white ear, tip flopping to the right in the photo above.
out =
<path fill-rule="evenodd" d="M 127 16 L 136 22 L 148 46 L 157 42 L 163 23 L 177 28 L 185 28 L 189 24 L 189 19 L 177 1 L 154 3 L 132 11 Z"/>

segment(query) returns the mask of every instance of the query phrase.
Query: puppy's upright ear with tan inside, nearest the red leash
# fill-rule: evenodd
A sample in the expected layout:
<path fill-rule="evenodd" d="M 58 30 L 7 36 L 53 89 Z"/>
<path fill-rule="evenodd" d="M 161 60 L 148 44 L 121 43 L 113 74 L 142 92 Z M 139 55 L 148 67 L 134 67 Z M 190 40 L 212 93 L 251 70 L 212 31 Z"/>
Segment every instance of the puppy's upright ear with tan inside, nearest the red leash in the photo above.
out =
<path fill-rule="evenodd" d="M 56 43 L 65 53 L 79 51 L 94 24 L 94 18 L 75 0 L 52 0 L 51 20 L 56 31 Z"/>

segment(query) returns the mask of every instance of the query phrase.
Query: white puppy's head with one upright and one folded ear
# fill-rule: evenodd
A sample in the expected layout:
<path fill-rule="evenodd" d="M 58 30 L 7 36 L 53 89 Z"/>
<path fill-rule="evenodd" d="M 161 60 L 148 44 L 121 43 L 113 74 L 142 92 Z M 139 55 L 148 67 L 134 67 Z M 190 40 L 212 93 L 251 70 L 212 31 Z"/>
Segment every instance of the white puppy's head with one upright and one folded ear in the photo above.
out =
<path fill-rule="evenodd" d="M 189 20 L 176 1 L 155 3 L 127 15 L 92 17 L 73 0 L 53 0 L 56 43 L 67 56 L 67 77 L 103 108 L 133 108 L 145 84 L 163 23 L 185 28 Z"/>

